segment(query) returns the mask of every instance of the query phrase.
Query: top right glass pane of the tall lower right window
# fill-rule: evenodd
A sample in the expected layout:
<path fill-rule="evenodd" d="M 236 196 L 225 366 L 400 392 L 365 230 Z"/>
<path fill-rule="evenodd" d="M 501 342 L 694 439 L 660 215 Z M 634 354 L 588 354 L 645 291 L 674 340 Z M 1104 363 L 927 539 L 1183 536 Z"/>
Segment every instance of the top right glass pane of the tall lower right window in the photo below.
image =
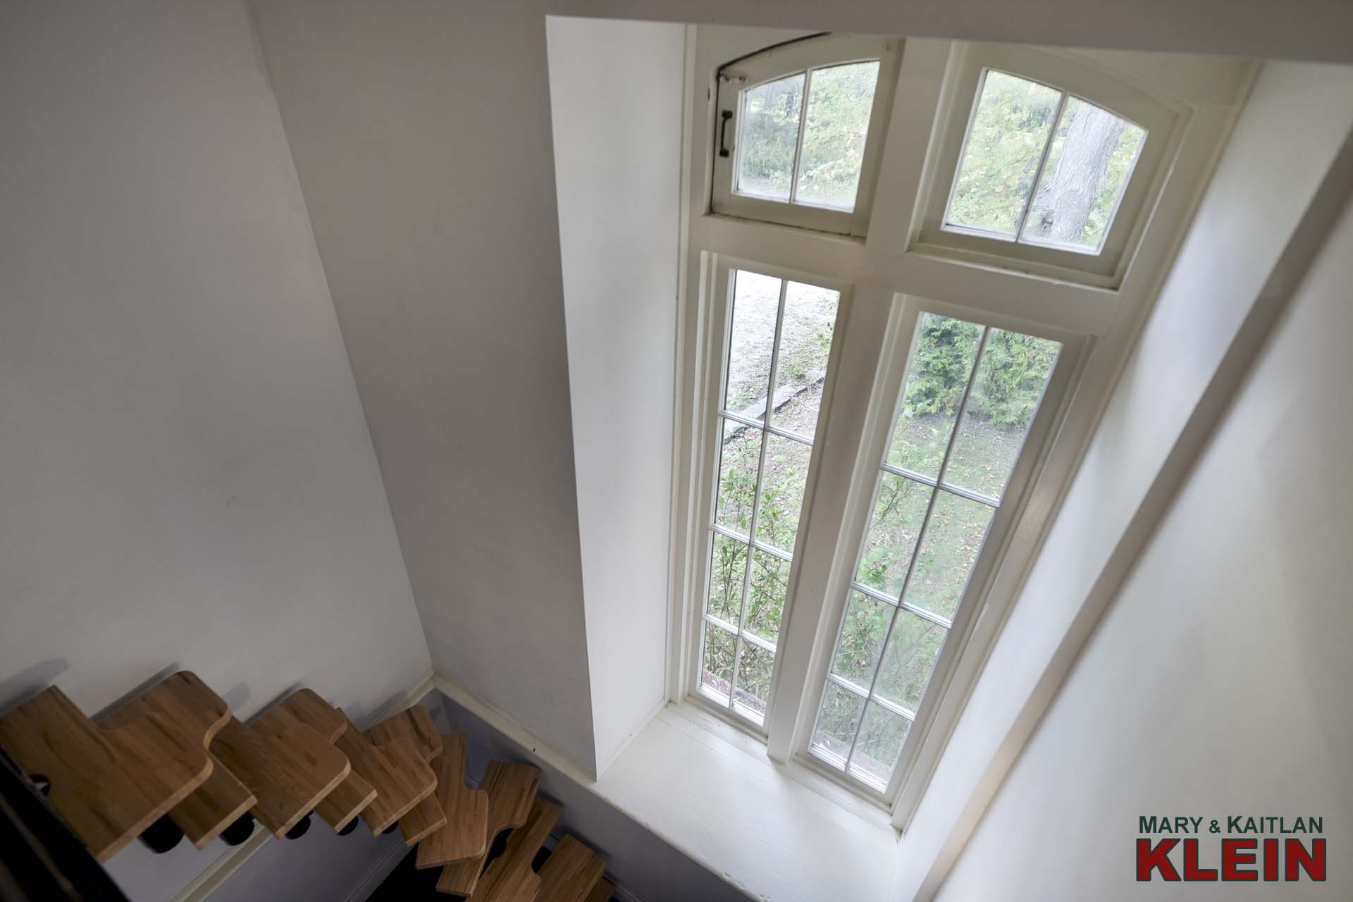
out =
<path fill-rule="evenodd" d="M 1061 343 L 993 329 L 977 365 L 944 481 L 1000 499 Z"/>

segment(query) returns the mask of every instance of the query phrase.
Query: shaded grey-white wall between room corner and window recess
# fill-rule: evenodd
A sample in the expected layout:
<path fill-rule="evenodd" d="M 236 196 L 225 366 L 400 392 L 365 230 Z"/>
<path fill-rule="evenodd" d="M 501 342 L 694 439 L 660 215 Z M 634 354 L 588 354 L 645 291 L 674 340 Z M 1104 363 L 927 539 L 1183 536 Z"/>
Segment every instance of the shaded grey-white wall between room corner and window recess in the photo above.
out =
<path fill-rule="evenodd" d="M 433 664 L 591 764 L 544 11 L 254 9 Z"/>

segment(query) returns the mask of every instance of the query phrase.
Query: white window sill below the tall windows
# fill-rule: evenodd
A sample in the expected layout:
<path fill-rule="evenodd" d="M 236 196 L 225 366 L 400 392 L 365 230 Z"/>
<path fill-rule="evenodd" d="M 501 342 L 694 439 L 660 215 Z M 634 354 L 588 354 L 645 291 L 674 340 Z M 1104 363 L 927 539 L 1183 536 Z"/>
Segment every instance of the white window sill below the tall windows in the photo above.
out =
<path fill-rule="evenodd" d="M 758 899 L 889 898 L 885 811 L 693 703 L 659 711 L 593 788 Z"/>

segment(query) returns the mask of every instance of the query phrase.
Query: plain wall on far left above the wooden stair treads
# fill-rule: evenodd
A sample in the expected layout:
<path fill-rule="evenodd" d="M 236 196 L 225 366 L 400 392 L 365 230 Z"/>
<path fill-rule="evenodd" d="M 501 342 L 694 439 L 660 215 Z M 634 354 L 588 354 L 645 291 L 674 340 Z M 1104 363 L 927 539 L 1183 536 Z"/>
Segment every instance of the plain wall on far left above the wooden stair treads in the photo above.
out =
<path fill-rule="evenodd" d="M 0 8 L 0 705 L 428 668 L 244 3 Z"/>

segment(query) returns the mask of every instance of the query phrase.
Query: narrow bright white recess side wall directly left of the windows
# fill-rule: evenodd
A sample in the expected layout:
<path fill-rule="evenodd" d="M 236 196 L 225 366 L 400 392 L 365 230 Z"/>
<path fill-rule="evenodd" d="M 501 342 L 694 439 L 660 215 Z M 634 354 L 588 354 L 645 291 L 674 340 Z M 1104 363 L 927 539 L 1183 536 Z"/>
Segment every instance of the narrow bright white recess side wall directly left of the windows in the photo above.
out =
<path fill-rule="evenodd" d="M 685 28 L 547 20 L 597 763 L 664 699 Z"/>

